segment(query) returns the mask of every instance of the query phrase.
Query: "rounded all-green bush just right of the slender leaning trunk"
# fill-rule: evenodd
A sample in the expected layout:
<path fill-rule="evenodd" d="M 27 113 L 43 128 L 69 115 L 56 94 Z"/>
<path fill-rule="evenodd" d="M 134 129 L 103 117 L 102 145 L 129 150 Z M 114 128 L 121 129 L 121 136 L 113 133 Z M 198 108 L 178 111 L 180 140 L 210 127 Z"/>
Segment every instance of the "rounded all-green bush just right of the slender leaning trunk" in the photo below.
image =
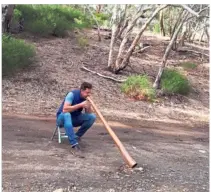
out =
<path fill-rule="evenodd" d="M 161 77 L 161 88 L 168 94 L 187 95 L 190 91 L 188 79 L 173 69 L 166 69 Z"/>

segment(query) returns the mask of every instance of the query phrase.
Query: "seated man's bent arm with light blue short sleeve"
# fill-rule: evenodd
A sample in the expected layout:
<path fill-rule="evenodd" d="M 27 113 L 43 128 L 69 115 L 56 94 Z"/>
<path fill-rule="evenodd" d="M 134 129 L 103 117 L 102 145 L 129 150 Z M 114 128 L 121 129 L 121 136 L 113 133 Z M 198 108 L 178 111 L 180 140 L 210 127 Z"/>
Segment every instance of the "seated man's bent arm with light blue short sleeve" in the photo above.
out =
<path fill-rule="evenodd" d="M 75 111 L 77 109 L 80 109 L 80 108 L 83 108 L 84 107 L 84 104 L 83 103 L 72 105 L 72 102 L 73 102 L 73 93 L 70 92 L 65 97 L 65 102 L 64 102 L 64 107 L 63 107 L 63 113 L 73 112 L 73 111 Z"/>

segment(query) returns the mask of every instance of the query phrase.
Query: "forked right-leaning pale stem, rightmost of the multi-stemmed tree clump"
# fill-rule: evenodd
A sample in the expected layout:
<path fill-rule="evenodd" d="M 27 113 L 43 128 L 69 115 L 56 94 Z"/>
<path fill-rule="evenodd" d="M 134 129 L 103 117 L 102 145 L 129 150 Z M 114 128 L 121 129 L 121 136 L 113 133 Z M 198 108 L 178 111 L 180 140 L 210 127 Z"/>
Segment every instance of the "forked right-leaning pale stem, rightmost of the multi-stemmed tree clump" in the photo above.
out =
<path fill-rule="evenodd" d="M 114 68 L 114 72 L 115 73 L 118 73 L 119 71 L 121 71 L 122 69 L 124 69 L 128 62 L 129 62 L 129 59 L 130 59 L 130 56 L 132 55 L 133 53 L 133 50 L 136 46 L 136 44 L 138 43 L 138 41 L 140 40 L 141 38 L 141 35 L 143 34 L 144 30 L 147 28 L 147 26 L 149 25 L 149 23 L 154 19 L 154 17 L 159 13 L 159 11 L 161 11 L 162 9 L 164 9 L 165 7 L 167 7 L 168 5 L 162 5 L 160 7 L 158 7 L 154 13 L 152 14 L 152 16 L 146 21 L 146 23 L 142 26 L 140 32 L 136 35 L 135 39 L 133 40 L 130 48 L 128 49 L 126 55 L 124 54 L 124 45 L 125 43 L 127 42 L 127 39 L 128 39 L 128 32 L 133 28 L 133 25 L 130 25 L 128 27 L 128 30 L 127 30 L 127 34 L 126 36 L 124 37 L 122 44 L 120 46 L 120 50 L 119 50 L 119 54 L 118 54 L 118 57 L 117 57 L 117 61 L 115 63 L 115 68 Z"/>

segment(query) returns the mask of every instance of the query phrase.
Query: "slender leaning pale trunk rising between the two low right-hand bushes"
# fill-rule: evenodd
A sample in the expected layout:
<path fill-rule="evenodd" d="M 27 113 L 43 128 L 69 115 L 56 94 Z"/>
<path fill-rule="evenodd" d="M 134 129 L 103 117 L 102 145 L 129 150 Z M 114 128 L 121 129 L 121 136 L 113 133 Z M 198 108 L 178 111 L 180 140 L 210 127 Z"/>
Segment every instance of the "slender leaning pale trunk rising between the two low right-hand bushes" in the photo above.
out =
<path fill-rule="evenodd" d="M 177 28 L 176 31 L 174 32 L 174 34 L 173 34 L 173 36 L 172 36 L 172 39 L 171 39 L 171 41 L 169 42 L 169 45 L 168 45 L 167 48 L 166 48 L 165 54 L 164 54 L 163 59 L 162 59 L 162 62 L 161 62 L 161 66 L 160 66 L 160 68 L 159 68 L 157 77 L 156 77 L 155 82 L 154 82 L 154 84 L 153 84 L 153 87 L 156 88 L 156 89 L 158 89 L 158 87 L 159 87 L 159 85 L 160 85 L 160 79 L 161 79 L 163 70 L 164 70 L 164 68 L 165 68 L 165 66 L 166 66 L 166 61 L 167 61 L 167 59 L 168 59 L 169 53 L 170 53 L 170 51 L 171 51 L 171 48 L 172 48 L 172 46 L 173 46 L 173 44 L 174 44 L 174 41 L 176 40 L 177 35 L 179 34 L 179 31 L 181 30 L 181 28 L 182 28 L 182 26 L 183 26 L 183 23 L 185 22 L 187 16 L 188 16 L 188 12 L 185 13 L 185 15 L 184 15 L 184 17 L 183 17 L 181 23 L 179 24 L 178 28 Z"/>

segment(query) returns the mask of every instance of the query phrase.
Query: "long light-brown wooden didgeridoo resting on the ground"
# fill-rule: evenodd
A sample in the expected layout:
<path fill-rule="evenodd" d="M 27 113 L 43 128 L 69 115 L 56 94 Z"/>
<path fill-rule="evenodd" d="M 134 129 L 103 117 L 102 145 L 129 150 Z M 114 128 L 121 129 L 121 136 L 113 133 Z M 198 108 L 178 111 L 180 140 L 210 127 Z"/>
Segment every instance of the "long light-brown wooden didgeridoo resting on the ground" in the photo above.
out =
<path fill-rule="evenodd" d="M 92 107 L 94 108 L 94 110 L 96 111 L 96 113 L 98 114 L 98 116 L 100 117 L 100 119 L 102 120 L 103 124 L 105 125 L 105 128 L 107 129 L 108 133 L 110 134 L 110 136 L 112 137 L 112 139 L 116 143 L 116 145 L 119 148 L 119 150 L 120 150 L 120 152 L 121 152 L 124 160 L 126 161 L 126 163 L 129 165 L 130 168 L 135 167 L 137 165 L 137 163 L 129 155 L 129 153 L 127 152 L 127 150 L 125 149 L 125 147 L 123 146 L 123 144 L 121 143 L 121 141 L 119 140 L 119 138 L 116 136 L 116 134 L 114 133 L 114 131 L 108 125 L 107 121 L 104 119 L 103 115 L 98 110 L 98 108 L 96 107 L 96 105 L 94 104 L 94 102 L 92 101 L 92 99 L 90 97 L 87 97 L 87 100 L 91 103 Z"/>

